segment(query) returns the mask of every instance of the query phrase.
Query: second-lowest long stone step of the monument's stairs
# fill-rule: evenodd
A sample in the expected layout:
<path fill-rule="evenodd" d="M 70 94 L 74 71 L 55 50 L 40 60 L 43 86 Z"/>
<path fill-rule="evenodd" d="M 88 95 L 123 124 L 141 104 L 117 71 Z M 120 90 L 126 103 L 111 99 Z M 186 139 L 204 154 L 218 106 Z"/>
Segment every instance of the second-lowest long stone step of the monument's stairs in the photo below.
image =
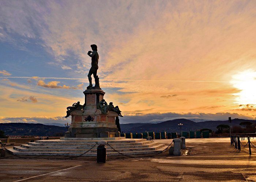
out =
<path fill-rule="evenodd" d="M 155 145 L 155 146 L 151 146 L 151 147 L 146 147 L 146 148 L 121 148 L 121 149 L 118 149 L 116 148 L 116 150 L 118 152 L 126 152 L 126 151 L 140 151 L 140 150 L 157 150 L 161 147 L 165 146 L 164 144 L 158 144 L 158 145 Z M 113 147 L 115 149 L 115 147 Z M 17 147 L 17 146 L 14 146 L 13 149 L 15 150 L 18 150 L 18 151 L 22 151 L 22 152 L 39 152 L 39 153 L 49 153 L 49 152 L 61 152 L 61 153 L 83 153 L 83 152 L 86 152 L 87 150 L 83 150 L 83 149 L 27 149 L 27 148 L 24 148 L 22 146 L 20 147 Z M 111 153 L 111 152 L 115 152 L 113 149 L 111 149 L 109 146 L 106 147 L 107 149 L 107 153 Z M 89 151 L 89 153 L 97 153 L 97 147 L 95 146 L 92 150 Z"/>

